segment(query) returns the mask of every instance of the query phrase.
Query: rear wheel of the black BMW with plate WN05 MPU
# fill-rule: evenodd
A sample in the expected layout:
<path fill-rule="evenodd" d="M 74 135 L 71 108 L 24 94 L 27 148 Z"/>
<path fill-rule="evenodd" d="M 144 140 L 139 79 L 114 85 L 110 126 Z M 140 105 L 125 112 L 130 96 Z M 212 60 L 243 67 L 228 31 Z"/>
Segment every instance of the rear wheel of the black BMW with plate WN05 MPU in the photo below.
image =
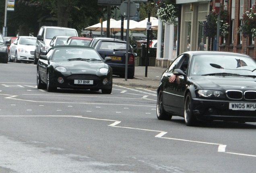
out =
<path fill-rule="evenodd" d="M 159 91 L 157 97 L 157 119 L 170 120 L 171 115 L 168 115 L 163 108 L 163 91 Z"/>

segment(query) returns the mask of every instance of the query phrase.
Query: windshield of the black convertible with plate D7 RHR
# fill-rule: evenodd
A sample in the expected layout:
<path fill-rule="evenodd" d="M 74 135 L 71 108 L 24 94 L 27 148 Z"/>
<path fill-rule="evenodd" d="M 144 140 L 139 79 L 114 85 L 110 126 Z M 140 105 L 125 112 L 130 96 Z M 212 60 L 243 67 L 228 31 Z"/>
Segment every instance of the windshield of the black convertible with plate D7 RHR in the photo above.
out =
<path fill-rule="evenodd" d="M 52 60 L 87 60 L 102 61 L 101 56 L 94 49 L 85 48 L 56 48 Z"/>

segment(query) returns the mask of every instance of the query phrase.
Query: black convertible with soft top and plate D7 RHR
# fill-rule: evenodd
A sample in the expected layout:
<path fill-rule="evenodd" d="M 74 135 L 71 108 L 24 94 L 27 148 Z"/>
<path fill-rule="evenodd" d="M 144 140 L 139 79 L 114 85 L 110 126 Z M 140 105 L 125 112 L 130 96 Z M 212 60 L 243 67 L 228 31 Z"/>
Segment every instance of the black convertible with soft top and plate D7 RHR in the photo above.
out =
<path fill-rule="evenodd" d="M 103 94 L 112 91 L 112 68 L 98 52 L 87 46 L 53 46 L 37 63 L 37 88 L 90 89 Z"/>

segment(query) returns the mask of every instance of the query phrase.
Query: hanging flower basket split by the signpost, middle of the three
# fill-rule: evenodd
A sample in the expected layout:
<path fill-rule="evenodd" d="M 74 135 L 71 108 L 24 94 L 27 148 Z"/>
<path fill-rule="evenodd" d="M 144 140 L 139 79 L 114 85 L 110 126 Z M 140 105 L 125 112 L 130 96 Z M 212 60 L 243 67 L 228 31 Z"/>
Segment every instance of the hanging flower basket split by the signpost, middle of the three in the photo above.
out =
<path fill-rule="evenodd" d="M 220 36 L 225 37 L 229 33 L 229 14 L 227 10 L 224 10 L 223 6 L 221 6 L 220 10 Z M 218 14 L 216 14 L 215 9 L 213 9 L 209 14 L 206 16 L 206 21 L 204 22 L 204 35 L 207 37 L 213 38 L 217 35 L 217 20 Z"/>

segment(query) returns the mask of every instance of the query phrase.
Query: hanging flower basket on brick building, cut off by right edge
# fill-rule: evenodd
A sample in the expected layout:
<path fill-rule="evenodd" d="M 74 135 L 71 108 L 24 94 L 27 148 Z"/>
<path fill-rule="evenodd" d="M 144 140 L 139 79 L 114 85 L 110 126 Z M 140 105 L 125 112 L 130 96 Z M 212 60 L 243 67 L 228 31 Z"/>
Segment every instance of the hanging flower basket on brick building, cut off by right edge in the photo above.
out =
<path fill-rule="evenodd" d="M 242 25 L 237 29 L 244 37 L 256 37 L 256 6 L 252 6 L 249 11 L 243 14 Z"/>

